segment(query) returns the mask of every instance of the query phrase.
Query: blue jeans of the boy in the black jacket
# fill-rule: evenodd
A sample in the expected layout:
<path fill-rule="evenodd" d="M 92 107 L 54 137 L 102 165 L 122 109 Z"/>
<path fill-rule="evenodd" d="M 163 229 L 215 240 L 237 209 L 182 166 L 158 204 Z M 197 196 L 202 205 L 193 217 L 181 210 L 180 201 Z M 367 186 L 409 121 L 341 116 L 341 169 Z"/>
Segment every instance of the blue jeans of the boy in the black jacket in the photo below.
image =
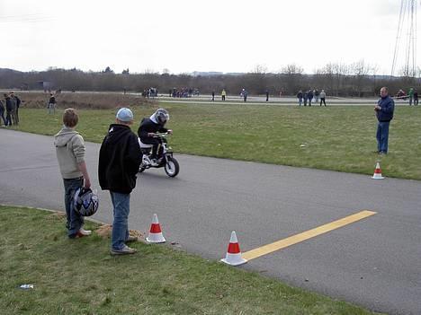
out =
<path fill-rule="evenodd" d="M 110 191 L 114 221 L 112 222 L 112 250 L 121 250 L 129 239 L 130 194 Z"/>

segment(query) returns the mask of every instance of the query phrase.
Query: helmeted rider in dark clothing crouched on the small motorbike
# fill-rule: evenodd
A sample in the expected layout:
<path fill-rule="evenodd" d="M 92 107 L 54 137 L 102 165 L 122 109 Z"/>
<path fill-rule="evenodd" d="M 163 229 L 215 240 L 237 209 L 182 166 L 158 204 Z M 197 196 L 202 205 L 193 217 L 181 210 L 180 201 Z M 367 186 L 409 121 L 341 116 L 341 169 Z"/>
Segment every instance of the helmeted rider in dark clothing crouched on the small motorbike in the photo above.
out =
<path fill-rule="evenodd" d="M 173 130 L 164 127 L 169 120 L 169 114 L 166 109 L 157 109 L 149 118 L 143 118 L 138 129 L 140 141 L 144 144 L 153 144 L 150 162 L 152 166 L 157 166 L 157 153 L 160 141 L 154 137 L 157 132 L 172 134 Z M 160 148 L 159 148 L 160 149 Z M 161 156 L 161 150 L 159 150 Z"/>

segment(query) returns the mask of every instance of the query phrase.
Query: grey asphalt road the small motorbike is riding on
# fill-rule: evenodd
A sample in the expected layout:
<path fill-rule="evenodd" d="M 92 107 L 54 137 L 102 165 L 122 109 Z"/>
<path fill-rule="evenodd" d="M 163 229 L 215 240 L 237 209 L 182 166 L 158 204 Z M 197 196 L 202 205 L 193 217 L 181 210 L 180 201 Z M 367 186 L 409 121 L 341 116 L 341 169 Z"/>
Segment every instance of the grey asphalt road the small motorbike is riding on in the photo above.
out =
<path fill-rule="evenodd" d="M 63 209 L 52 141 L 0 129 L 1 204 Z M 94 184 L 98 150 L 98 144 L 87 144 Z M 177 157 L 182 169 L 175 179 L 163 170 L 139 175 L 130 228 L 148 231 L 157 213 L 168 242 L 219 259 L 231 231 L 245 252 L 372 210 L 378 214 L 255 258 L 244 268 L 371 310 L 421 314 L 420 181 Z M 110 197 L 100 192 L 100 200 L 94 217 L 111 223 Z"/>

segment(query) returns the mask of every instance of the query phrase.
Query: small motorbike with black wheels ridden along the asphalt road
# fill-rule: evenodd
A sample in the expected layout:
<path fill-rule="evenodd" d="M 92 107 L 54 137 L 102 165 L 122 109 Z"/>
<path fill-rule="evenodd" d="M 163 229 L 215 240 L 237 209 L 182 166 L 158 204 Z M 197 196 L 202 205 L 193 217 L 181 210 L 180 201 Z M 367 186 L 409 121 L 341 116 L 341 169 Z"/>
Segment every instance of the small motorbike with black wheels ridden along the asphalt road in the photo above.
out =
<path fill-rule="evenodd" d="M 180 166 L 173 156 L 173 149 L 166 142 L 166 136 L 168 135 L 170 134 L 166 132 L 162 134 L 156 134 L 156 136 L 154 136 L 154 138 L 157 138 L 160 142 L 160 147 L 158 147 L 158 153 L 160 154 L 157 158 L 157 163 L 155 164 L 150 159 L 153 144 L 144 144 L 140 141 L 139 138 L 140 150 L 143 153 L 142 162 L 139 166 L 139 172 L 148 170 L 151 167 L 157 169 L 163 167 L 166 171 L 166 175 L 169 177 L 177 176 L 178 172 L 180 171 Z"/>

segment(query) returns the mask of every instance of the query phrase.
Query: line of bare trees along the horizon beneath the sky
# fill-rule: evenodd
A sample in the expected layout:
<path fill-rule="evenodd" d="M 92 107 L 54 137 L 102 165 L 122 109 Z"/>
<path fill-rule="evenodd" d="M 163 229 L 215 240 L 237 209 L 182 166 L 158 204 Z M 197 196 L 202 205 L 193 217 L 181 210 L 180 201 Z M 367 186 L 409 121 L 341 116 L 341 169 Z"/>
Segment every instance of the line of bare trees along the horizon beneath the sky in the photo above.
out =
<path fill-rule="evenodd" d="M 49 68 L 40 72 L 19 72 L 0 69 L 0 88 L 7 90 L 42 90 L 42 83 L 50 83 L 52 90 L 98 91 L 98 92 L 143 92 L 154 87 L 159 94 L 168 94 L 173 88 L 196 88 L 202 94 L 217 94 L 225 89 L 228 95 L 237 95 L 243 88 L 250 94 L 295 95 L 300 90 L 325 90 L 328 95 L 340 97 L 377 96 L 381 86 L 388 86 L 391 93 L 399 89 L 407 91 L 417 88 L 419 78 L 409 76 L 378 75 L 374 66 L 363 60 L 351 65 L 329 63 L 315 71 L 304 74 L 300 66 L 283 66 L 278 73 L 268 73 L 264 66 L 256 66 L 245 74 L 197 75 L 143 73 L 130 74 L 125 69 L 116 74 L 110 66 L 101 72 L 84 72 L 74 69 Z M 44 85 L 45 87 L 45 85 Z"/>

